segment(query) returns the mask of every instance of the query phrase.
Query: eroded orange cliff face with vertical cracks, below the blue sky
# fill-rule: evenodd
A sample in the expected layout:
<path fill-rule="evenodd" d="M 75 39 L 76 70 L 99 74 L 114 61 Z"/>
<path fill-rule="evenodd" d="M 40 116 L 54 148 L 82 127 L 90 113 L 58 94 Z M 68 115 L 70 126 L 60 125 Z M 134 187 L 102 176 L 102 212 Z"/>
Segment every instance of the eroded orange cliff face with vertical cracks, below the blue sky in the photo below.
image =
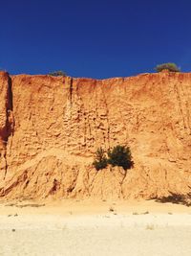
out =
<path fill-rule="evenodd" d="M 92 167 L 129 145 L 127 173 Z M 2 198 L 159 198 L 191 192 L 191 74 L 126 79 L 0 73 Z"/>

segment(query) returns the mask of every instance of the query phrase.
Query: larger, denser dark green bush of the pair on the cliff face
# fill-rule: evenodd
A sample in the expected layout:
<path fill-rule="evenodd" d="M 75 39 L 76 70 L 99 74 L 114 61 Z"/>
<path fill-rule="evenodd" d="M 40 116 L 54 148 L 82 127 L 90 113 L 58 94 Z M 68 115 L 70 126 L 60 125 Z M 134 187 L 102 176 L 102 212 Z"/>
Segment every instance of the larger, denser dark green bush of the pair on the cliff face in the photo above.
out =
<path fill-rule="evenodd" d="M 124 170 L 127 170 L 134 165 L 129 147 L 118 145 L 112 151 L 108 151 L 108 156 L 108 163 L 112 166 L 121 166 Z"/>

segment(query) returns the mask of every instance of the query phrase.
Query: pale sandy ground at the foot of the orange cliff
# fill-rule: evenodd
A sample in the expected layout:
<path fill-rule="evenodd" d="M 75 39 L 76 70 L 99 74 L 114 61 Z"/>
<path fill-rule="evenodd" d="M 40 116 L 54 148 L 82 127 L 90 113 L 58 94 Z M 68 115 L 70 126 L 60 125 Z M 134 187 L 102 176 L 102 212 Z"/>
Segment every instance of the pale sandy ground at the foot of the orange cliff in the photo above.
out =
<path fill-rule="evenodd" d="M 191 207 L 183 205 L 91 200 L 0 205 L 0 255 L 190 256 L 190 240 Z"/>

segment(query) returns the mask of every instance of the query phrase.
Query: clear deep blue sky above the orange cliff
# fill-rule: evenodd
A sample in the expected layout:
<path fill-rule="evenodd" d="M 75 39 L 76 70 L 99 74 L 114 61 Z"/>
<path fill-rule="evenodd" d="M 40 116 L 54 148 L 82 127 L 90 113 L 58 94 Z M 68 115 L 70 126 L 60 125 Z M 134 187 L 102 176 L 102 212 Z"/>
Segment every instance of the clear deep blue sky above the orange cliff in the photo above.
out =
<path fill-rule="evenodd" d="M 11 74 L 191 71 L 190 0 L 2 0 L 0 10 L 0 68 Z"/>

